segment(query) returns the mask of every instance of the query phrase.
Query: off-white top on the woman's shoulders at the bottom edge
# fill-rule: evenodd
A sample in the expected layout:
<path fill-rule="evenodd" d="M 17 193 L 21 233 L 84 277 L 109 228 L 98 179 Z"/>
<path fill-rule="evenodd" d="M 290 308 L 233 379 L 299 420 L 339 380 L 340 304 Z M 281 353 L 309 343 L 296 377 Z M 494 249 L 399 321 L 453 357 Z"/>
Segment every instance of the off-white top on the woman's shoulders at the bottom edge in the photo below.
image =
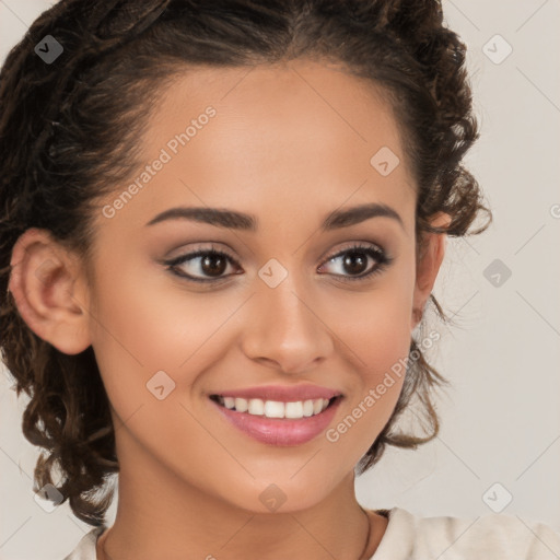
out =
<path fill-rule="evenodd" d="M 380 512 L 380 510 L 375 510 Z M 388 524 L 370 560 L 558 560 L 560 533 L 521 517 L 488 513 L 475 518 L 417 517 L 388 510 Z M 63 560 L 97 560 L 95 527 Z M 444 555 L 444 551 L 445 555 Z"/>

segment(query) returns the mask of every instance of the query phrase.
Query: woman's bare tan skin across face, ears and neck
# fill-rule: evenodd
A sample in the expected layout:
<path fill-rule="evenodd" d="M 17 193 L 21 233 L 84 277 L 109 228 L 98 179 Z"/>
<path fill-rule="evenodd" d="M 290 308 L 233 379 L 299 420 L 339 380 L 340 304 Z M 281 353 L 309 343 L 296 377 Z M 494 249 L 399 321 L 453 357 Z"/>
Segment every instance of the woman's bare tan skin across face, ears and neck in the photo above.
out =
<path fill-rule="evenodd" d="M 249 439 L 208 395 L 267 384 L 334 387 L 345 395 L 330 425 L 338 424 L 408 355 L 445 236 L 431 234 L 416 261 L 415 180 L 392 109 L 371 83 L 303 60 L 248 73 L 185 72 L 139 140 L 143 161 L 208 105 L 217 116 L 147 186 L 113 218 L 100 210 L 90 281 L 77 255 L 28 230 L 13 249 L 10 290 L 39 337 L 69 354 L 92 345 L 98 362 L 120 463 L 116 522 L 97 542 L 98 559 L 185 559 L 188 550 L 192 559 L 355 560 L 369 523 L 353 468 L 389 419 L 402 377 L 337 442 L 322 434 L 289 447 Z M 382 147 L 400 159 L 387 176 L 370 164 Z M 319 231 L 329 212 L 366 202 L 390 206 L 402 226 L 377 217 Z M 185 219 L 145 226 L 178 206 L 252 213 L 259 229 Z M 394 260 L 345 282 L 362 272 L 345 268 L 343 256 L 328 259 L 353 242 Z M 240 264 L 228 264 L 222 276 L 231 276 L 218 288 L 161 264 L 210 243 Z M 271 258 L 288 271 L 273 289 L 258 276 Z M 376 265 L 369 257 L 361 270 Z M 209 278 L 200 258 L 180 269 Z M 176 384 L 163 400 L 145 386 L 161 370 Z M 285 495 L 276 512 L 259 500 L 272 483 Z M 370 511 L 370 525 L 366 558 L 387 522 Z"/>

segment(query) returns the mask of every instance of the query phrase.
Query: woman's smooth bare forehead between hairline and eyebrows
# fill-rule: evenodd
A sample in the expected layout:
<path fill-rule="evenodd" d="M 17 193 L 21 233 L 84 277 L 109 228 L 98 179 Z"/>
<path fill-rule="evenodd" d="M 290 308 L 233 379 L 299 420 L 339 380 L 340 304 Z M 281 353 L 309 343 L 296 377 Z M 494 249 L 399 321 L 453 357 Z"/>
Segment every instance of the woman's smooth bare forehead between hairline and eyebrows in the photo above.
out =
<path fill-rule="evenodd" d="M 189 67 L 166 86 L 141 147 L 144 164 L 165 163 L 136 212 L 196 203 L 258 213 L 292 202 L 323 217 L 346 201 L 415 203 L 390 105 L 331 65 Z"/>

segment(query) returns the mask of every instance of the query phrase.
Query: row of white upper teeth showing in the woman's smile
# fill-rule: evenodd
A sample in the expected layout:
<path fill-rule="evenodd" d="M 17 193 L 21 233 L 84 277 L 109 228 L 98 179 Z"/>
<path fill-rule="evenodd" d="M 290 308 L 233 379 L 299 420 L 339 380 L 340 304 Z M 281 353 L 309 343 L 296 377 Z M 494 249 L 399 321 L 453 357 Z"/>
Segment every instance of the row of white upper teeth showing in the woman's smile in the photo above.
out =
<path fill-rule="evenodd" d="M 219 401 L 230 410 L 237 412 L 248 412 L 254 416 L 265 416 L 266 418 L 308 418 L 323 412 L 328 407 L 329 399 L 316 398 L 307 400 L 298 400 L 295 402 L 281 402 L 278 400 L 262 400 L 260 398 L 233 398 L 221 397 Z"/>

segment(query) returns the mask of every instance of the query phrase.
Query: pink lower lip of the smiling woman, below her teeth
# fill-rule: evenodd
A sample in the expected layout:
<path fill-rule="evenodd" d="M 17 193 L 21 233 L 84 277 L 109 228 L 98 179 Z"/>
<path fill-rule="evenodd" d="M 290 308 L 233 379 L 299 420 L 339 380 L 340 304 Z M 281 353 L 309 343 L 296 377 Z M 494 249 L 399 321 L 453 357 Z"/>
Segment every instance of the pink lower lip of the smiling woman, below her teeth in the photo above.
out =
<path fill-rule="evenodd" d="M 233 425 L 261 443 L 301 445 L 310 442 L 327 429 L 338 409 L 340 397 L 337 397 L 323 412 L 295 420 L 237 412 L 222 407 L 212 399 L 210 401 Z"/>

